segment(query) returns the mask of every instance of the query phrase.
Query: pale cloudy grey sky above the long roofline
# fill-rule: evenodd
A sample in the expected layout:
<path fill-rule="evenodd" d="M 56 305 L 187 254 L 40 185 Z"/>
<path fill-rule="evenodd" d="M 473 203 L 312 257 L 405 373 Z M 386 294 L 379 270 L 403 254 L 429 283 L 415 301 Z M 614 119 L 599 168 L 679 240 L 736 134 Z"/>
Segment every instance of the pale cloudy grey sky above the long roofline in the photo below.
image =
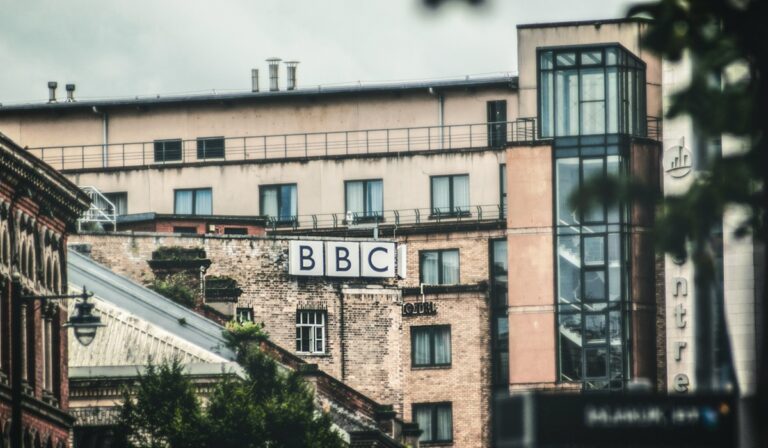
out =
<path fill-rule="evenodd" d="M 244 91 L 251 68 L 266 84 L 271 56 L 301 61 L 305 87 L 516 72 L 517 24 L 617 18 L 631 3 L 0 0 L 0 103 L 44 101 L 49 80 L 80 98 Z"/>

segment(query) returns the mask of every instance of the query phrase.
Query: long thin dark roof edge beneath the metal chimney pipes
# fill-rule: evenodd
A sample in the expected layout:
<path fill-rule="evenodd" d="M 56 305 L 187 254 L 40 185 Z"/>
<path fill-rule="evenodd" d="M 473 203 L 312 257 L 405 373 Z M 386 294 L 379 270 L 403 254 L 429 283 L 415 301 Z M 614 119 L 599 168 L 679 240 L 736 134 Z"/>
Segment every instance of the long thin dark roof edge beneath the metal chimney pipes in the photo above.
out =
<path fill-rule="evenodd" d="M 136 96 L 133 98 L 100 99 L 100 100 L 76 100 L 72 102 L 60 101 L 55 103 L 24 103 L 0 105 L 0 115 L 11 112 L 37 112 L 45 110 L 67 111 L 90 108 L 112 107 L 149 107 L 175 104 L 217 103 L 217 102 L 257 102 L 260 100 L 302 99 L 319 96 L 340 95 L 364 95 L 381 93 L 412 92 L 418 90 L 458 90 L 469 88 L 493 88 L 506 87 L 517 89 L 517 76 L 495 75 L 478 78 L 466 77 L 464 79 L 397 82 L 397 83 L 372 83 L 372 84 L 347 84 L 339 86 L 305 87 L 296 90 L 238 92 L 220 94 L 196 94 L 196 95 L 156 95 Z"/>

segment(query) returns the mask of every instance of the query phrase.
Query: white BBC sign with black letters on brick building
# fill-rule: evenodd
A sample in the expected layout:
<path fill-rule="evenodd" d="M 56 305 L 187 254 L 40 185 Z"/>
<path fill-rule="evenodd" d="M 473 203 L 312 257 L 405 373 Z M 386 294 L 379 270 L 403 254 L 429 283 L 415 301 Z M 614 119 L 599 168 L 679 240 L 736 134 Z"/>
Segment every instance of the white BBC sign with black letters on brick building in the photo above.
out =
<path fill-rule="evenodd" d="M 314 277 L 405 278 L 406 246 L 388 242 L 291 241 L 288 273 Z"/>

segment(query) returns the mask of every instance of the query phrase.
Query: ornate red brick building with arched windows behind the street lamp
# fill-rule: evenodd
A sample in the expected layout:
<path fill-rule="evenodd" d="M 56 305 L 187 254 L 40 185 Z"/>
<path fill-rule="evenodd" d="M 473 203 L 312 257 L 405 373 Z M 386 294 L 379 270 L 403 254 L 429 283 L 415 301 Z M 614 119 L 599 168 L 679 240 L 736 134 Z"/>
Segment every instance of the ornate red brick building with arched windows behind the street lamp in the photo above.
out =
<path fill-rule="evenodd" d="M 61 303 L 28 300 L 11 319 L 11 278 L 22 296 L 63 294 L 66 240 L 88 199 L 74 184 L 0 134 L 0 427 L 11 446 L 11 377 L 23 364 L 22 447 L 69 446 L 67 313 Z M 22 356 L 12 356 L 21 327 Z"/>

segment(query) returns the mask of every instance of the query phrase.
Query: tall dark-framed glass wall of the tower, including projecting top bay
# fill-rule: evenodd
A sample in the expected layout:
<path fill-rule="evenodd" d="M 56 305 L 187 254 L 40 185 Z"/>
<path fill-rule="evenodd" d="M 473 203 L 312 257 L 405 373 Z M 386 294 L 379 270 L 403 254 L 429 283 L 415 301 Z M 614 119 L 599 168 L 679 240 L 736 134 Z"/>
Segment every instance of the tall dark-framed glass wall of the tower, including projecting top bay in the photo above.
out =
<path fill-rule="evenodd" d="M 578 211 L 590 179 L 627 175 L 646 135 L 645 63 L 619 45 L 539 50 L 539 120 L 553 137 L 558 380 L 621 389 L 629 373 L 628 207 Z"/>

